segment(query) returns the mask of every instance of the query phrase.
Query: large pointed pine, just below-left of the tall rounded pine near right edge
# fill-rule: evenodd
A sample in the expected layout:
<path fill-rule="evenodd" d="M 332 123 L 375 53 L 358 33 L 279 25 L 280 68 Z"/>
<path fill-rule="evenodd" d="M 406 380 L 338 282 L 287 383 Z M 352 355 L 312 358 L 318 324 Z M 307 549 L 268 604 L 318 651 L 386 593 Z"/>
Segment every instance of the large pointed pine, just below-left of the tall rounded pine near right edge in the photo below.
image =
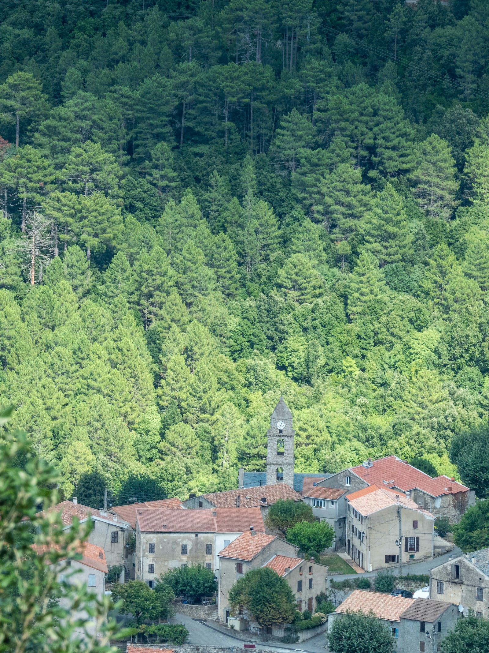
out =
<path fill-rule="evenodd" d="M 413 253 L 408 215 L 402 198 L 390 183 L 372 200 L 372 208 L 366 214 L 363 226 L 365 249 L 379 261 L 408 263 Z"/>

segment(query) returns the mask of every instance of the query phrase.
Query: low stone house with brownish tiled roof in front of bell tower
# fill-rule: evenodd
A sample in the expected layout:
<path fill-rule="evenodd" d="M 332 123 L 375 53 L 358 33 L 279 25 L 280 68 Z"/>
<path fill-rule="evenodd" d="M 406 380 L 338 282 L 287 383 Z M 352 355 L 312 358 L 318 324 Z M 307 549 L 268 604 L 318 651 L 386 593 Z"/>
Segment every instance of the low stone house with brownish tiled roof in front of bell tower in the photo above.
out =
<path fill-rule="evenodd" d="M 262 485 L 261 487 L 247 488 L 244 490 L 227 490 L 226 492 L 212 492 L 192 496 L 183 502 L 185 508 L 259 508 L 263 520 L 268 515 L 269 507 L 279 499 L 291 499 L 295 502 L 303 501 L 299 492 L 295 492 L 286 483 L 276 485 Z"/>

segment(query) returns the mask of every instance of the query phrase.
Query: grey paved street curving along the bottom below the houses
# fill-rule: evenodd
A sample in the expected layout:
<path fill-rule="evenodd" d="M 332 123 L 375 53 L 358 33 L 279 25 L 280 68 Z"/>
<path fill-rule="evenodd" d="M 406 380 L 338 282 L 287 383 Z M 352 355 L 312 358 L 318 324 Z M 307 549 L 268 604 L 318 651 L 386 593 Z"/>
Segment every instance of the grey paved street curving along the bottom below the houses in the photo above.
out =
<path fill-rule="evenodd" d="M 248 643 L 233 635 L 228 635 L 220 631 L 215 622 L 205 622 L 201 620 L 192 619 L 186 614 L 176 614 L 171 619 L 172 624 L 183 624 L 190 633 L 188 637 L 189 644 L 200 645 L 218 645 L 218 646 L 236 646 L 237 648 L 243 647 L 244 643 Z M 250 633 L 251 635 L 251 633 Z M 250 639 L 249 643 L 256 643 L 256 650 L 274 651 L 276 653 L 290 653 L 290 651 L 303 651 L 304 653 L 325 653 L 325 633 L 312 637 L 306 642 L 301 644 L 273 644 L 261 643 L 254 639 Z"/>

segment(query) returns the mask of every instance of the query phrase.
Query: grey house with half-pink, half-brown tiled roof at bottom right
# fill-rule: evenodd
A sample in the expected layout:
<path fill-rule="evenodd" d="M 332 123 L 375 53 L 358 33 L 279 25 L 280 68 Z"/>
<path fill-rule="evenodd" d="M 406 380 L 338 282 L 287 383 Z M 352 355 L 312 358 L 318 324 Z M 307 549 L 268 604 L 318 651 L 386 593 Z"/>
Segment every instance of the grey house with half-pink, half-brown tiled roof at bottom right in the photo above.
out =
<path fill-rule="evenodd" d="M 405 599 L 381 592 L 355 590 L 329 616 L 328 630 L 346 613 L 373 613 L 396 638 L 396 653 L 435 653 L 441 640 L 456 626 L 458 609 L 452 603 L 431 599 Z"/>

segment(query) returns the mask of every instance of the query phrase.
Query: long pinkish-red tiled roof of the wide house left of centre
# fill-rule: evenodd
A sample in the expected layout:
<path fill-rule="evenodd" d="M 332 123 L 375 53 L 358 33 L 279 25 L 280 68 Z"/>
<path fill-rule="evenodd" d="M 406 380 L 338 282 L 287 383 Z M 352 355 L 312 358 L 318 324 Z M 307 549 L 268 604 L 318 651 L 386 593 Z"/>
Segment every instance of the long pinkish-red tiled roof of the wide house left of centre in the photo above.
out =
<path fill-rule="evenodd" d="M 259 508 L 142 509 L 136 519 L 141 532 L 148 533 L 244 533 L 250 526 L 265 532 Z"/>

